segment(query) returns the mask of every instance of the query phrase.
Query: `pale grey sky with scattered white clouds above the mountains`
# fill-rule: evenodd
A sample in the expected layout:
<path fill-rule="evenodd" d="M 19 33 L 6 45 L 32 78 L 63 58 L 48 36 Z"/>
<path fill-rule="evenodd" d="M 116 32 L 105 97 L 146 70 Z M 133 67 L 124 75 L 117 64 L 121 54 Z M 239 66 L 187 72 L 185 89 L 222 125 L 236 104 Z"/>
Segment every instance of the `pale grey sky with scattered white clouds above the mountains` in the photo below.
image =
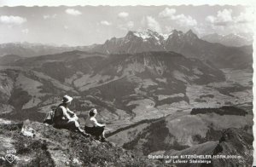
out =
<path fill-rule="evenodd" d="M 4 2 L 4 1 L 3 1 Z M 12 2 L 12 1 L 9 1 Z M 1 5 L 1 3 L 0 3 Z M 33 6 L 0 7 L 0 43 L 29 42 L 70 46 L 104 43 L 128 31 L 168 34 L 191 29 L 209 33 L 253 33 L 250 6 Z"/>

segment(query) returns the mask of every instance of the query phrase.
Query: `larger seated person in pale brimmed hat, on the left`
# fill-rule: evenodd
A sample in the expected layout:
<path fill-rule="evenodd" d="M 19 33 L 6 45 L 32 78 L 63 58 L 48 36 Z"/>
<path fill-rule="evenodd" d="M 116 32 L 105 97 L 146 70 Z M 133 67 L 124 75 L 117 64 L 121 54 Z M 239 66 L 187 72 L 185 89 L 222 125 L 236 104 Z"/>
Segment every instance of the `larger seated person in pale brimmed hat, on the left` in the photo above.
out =
<path fill-rule="evenodd" d="M 58 129 L 78 131 L 82 135 L 89 137 L 89 134 L 86 134 L 84 130 L 80 129 L 78 122 L 79 118 L 77 115 L 67 108 L 67 106 L 71 104 L 71 101 L 73 101 L 72 97 L 64 95 L 61 104 L 55 109 L 55 115 L 53 118 L 54 127 Z"/>

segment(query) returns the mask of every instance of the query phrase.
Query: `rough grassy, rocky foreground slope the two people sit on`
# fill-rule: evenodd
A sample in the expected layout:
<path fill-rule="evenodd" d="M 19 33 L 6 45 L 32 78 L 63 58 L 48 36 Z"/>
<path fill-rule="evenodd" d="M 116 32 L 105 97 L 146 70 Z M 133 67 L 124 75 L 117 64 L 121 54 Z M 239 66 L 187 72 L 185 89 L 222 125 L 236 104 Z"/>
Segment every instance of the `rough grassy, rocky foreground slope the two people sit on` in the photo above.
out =
<path fill-rule="evenodd" d="M 26 127 L 24 127 L 26 126 Z M 33 129 L 34 137 L 20 133 L 21 128 Z M 1 120 L 0 166 L 162 166 L 159 161 L 137 157 L 111 142 L 68 131 L 56 130 L 38 122 L 14 123 Z M 3 140 L 6 139 L 6 140 Z M 16 153 L 6 153 L 15 150 Z M 6 159 L 12 158 L 9 163 Z"/>

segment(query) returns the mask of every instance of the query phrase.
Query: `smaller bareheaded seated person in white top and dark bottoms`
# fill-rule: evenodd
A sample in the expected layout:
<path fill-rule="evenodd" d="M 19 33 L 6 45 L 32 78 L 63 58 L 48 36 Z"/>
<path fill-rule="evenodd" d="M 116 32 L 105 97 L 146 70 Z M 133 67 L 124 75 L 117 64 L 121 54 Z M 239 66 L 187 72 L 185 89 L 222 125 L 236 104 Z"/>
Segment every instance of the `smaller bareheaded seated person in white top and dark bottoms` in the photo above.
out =
<path fill-rule="evenodd" d="M 102 137 L 101 141 L 104 142 L 106 141 L 104 135 L 104 128 L 106 124 L 99 124 L 96 120 L 96 114 L 96 108 L 92 108 L 89 112 L 89 117 L 85 121 L 84 130 L 90 135 L 95 135 L 96 140 L 100 140 L 100 137 Z"/>

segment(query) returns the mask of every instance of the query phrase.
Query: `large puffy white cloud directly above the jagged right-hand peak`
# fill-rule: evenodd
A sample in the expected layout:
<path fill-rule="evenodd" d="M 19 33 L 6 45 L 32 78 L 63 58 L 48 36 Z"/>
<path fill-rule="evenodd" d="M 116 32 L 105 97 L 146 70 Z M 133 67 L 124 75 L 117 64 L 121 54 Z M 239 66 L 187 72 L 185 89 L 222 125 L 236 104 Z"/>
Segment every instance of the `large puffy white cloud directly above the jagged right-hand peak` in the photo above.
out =
<path fill-rule="evenodd" d="M 176 14 L 176 9 L 166 8 L 159 14 L 160 18 L 175 20 L 179 26 L 196 26 L 197 21 L 190 15 Z"/>

